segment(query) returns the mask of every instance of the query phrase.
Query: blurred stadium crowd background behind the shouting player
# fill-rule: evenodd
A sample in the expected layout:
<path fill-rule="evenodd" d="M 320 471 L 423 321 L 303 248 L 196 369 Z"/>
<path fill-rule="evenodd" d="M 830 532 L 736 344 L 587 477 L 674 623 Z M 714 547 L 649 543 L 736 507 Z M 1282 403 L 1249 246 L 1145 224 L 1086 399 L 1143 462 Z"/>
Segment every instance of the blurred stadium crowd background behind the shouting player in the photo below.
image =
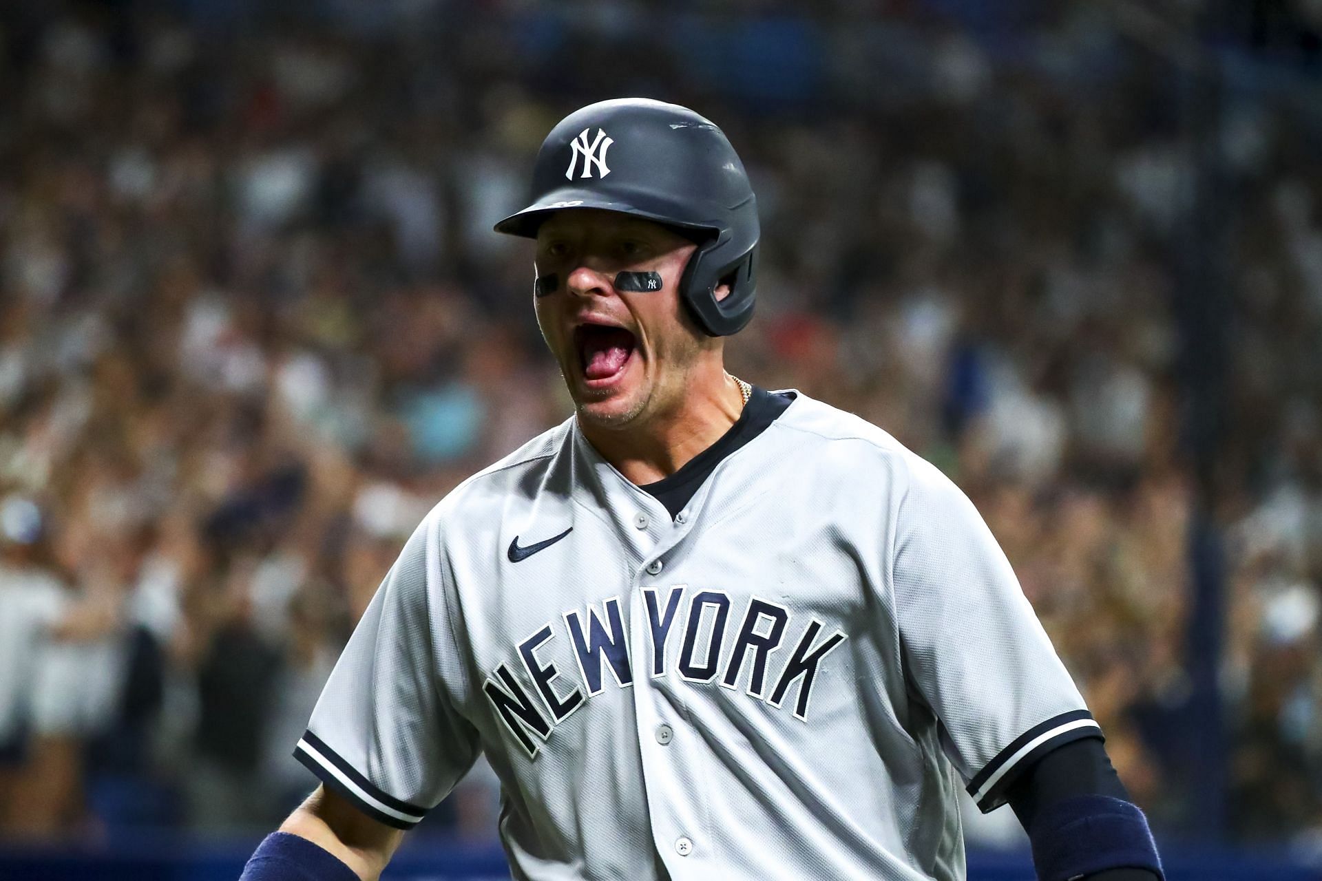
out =
<path fill-rule="evenodd" d="M 974 499 L 1171 877 L 1322 877 L 1318 0 L 0 4 L 0 877 L 233 878 L 312 789 L 405 538 L 571 412 L 490 225 L 621 95 L 754 177 L 731 370 Z"/>

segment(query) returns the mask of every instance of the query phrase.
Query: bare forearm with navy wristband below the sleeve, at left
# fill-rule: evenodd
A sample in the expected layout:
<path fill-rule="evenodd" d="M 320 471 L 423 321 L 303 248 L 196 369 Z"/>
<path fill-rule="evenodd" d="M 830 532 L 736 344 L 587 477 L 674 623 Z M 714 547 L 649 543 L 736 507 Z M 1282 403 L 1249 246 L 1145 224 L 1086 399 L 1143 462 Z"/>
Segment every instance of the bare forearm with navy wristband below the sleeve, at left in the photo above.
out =
<path fill-rule="evenodd" d="M 403 836 L 319 786 L 258 847 L 239 881 L 375 881 Z"/>

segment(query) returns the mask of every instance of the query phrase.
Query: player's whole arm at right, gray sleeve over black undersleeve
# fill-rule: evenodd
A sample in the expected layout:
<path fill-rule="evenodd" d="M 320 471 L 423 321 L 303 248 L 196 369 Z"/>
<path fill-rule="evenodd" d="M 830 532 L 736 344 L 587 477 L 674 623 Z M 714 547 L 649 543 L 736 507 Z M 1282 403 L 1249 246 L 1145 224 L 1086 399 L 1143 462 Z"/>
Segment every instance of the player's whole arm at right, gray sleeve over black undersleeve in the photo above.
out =
<path fill-rule="evenodd" d="M 1043 881 L 1153 881 L 1161 860 L 1103 732 L 973 503 L 902 474 L 891 582 L 906 676 L 982 811 L 1010 803 Z"/>

